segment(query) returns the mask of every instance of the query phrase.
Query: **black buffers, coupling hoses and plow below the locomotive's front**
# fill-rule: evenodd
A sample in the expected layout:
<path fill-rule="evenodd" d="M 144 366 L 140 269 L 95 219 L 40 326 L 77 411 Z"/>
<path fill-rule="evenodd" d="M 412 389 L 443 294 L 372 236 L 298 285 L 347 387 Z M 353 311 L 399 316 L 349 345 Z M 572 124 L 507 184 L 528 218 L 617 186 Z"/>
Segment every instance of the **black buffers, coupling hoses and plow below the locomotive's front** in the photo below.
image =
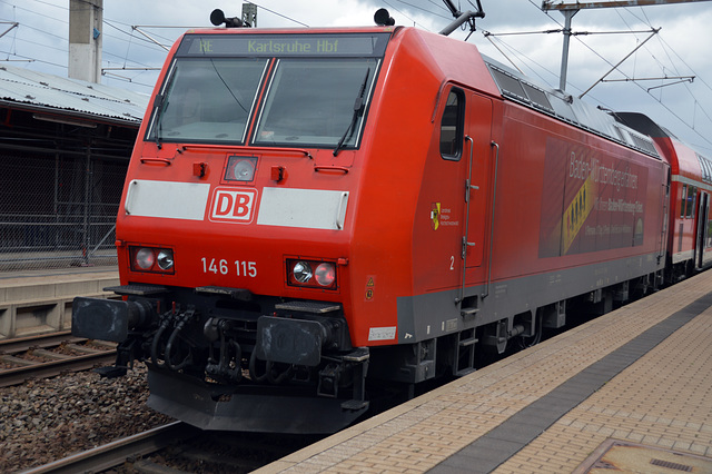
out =
<path fill-rule="evenodd" d="M 159 412 L 204 429 L 328 433 L 368 408 L 369 352 L 352 346 L 338 304 L 218 287 L 111 290 L 125 300 L 75 300 L 73 332 L 119 343 L 105 376 L 145 362 Z"/>

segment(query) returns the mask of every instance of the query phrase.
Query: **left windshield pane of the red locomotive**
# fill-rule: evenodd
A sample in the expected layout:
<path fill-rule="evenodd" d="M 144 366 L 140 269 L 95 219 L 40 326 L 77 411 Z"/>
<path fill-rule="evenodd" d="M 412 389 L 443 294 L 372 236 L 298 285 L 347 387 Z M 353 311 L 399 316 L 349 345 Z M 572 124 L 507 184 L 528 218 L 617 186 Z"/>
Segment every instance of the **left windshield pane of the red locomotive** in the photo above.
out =
<path fill-rule="evenodd" d="M 244 142 L 267 59 L 177 59 L 148 139 Z"/>

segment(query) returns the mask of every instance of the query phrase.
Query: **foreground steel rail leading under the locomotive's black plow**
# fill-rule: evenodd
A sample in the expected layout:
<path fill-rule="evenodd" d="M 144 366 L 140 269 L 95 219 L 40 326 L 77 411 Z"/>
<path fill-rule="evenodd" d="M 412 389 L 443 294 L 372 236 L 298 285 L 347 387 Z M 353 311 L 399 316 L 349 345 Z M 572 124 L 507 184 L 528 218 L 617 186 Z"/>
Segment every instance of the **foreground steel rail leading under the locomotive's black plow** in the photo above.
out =
<path fill-rule="evenodd" d="M 170 444 L 186 441 L 202 433 L 182 422 L 174 422 L 146 432 L 113 441 L 92 450 L 53 461 L 39 467 L 23 471 L 24 474 L 78 473 L 109 470 L 126 462 L 130 456 L 145 456 Z"/>

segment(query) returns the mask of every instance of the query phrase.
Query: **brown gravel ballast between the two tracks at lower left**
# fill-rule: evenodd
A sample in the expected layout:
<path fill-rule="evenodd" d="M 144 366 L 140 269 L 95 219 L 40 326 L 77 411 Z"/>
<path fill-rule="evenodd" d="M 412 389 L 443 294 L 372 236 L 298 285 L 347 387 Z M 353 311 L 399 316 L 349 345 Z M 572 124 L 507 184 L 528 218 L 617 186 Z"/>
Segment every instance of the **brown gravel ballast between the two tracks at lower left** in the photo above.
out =
<path fill-rule="evenodd" d="M 125 377 L 93 372 L 0 388 L 0 472 L 36 467 L 171 422 L 146 406 L 146 366 Z"/>

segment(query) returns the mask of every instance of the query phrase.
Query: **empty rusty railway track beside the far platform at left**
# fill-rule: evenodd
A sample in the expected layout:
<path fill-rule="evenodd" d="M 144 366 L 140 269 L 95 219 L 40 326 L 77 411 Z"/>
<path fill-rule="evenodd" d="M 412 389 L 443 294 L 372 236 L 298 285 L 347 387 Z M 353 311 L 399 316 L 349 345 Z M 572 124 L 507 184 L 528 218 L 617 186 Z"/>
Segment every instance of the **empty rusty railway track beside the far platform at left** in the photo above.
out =
<path fill-rule="evenodd" d="M 115 344 L 72 337 L 69 330 L 0 340 L 0 387 L 87 371 L 115 359 Z"/>

